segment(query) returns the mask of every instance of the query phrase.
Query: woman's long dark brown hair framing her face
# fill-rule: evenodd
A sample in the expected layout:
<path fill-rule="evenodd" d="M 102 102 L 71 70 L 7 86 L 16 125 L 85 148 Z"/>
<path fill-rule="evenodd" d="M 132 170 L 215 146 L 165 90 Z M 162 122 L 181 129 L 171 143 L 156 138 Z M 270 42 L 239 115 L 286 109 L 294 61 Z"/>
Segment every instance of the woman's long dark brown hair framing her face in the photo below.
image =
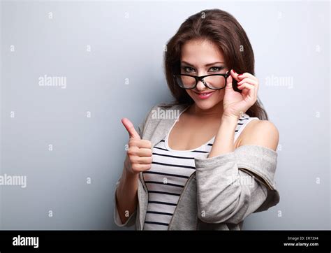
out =
<path fill-rule="evenodd" d="M 224 10 L 202 10 L 191 15 L 179 27 L 177 33 L 168 41 L 164 52 L 165 78 L 172 96 L 177 103 L 194 103 L 191 96 L 175 84 L 172 73 L 180 71 L 180 57 L 182 45 L 190 40 L 202 39 L 214 43 L 223 53 L 226 66 L 235 69 L 237 73 L 254 73 L 254 54 L 246 32 L 239 22 Z M 236 91 L 236 81 L 233 87 Z M 267 112 L 260 99 L 247 112 L 251 117 L 268 120 Z"/>

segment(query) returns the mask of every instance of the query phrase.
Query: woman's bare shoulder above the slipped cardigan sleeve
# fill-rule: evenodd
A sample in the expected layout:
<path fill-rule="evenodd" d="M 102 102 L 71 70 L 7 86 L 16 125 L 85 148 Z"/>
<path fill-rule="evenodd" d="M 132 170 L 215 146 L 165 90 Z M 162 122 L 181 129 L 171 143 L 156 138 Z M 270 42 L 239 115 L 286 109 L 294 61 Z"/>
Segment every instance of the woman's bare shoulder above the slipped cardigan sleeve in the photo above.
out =
<path fill-rule="evenodd" d="M 269 120 L 252 120 L 247 124 L 240 136 L 239 147 L 242 145 L 260 145 L 277 150 L 279 131 Z"/>

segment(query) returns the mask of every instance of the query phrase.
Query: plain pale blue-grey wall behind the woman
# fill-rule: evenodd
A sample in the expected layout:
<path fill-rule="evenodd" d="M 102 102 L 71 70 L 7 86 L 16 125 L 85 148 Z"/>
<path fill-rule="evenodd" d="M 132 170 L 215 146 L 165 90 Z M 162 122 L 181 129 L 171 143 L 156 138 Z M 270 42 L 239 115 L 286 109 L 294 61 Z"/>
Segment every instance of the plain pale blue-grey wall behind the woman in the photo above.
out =
<path fill-rule="evenodd" d="M 120 120 L 138 126 L 172 100 L 163 47 L 209 8 L 247 32 L 258 97 L 280 133 L 281 201 L 244 229 L 330 229 L 329 1 L 1 1 L 0 175 L 26 175 L 27 187 L 0 185 L 0 229 L 119 229 Z M 66 88 L 39 86 L 44 75 Z"/>

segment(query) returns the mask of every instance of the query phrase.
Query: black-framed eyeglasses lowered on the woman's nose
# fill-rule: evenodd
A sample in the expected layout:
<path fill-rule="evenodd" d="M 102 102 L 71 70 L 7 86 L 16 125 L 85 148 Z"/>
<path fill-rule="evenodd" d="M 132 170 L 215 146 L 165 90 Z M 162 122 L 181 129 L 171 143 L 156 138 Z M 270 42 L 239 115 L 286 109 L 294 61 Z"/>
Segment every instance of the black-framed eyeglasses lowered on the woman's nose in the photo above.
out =
<path fill-rule="evenodd" d="M 209 89 L 223 89 L 226 87 L 226 78 L 230 75 L 230 71 L 224 74 L 211 75 L 188 75 L 188 74 L 173 74 L 172 77 L 175 83 L 183 89 L 194 89 L 198 85 L 198 81 L 203 82 L 203 85 Z"/>

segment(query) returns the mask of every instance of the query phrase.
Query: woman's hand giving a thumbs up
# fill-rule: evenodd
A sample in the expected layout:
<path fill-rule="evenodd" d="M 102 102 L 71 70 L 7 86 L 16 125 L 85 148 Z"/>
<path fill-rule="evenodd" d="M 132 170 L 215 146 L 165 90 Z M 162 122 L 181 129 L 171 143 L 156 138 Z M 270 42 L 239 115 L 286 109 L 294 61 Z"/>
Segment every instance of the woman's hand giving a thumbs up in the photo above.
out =
<path fill-rule="evenodd" d="M 152 143 L 149 140 L 142 140 L 135 131 L 132 122 L 126 117 L 122 119 L 122 124 L 128 131 L 128 159 L 131 168 L 130 173 L 138 174 L 140 171 L 147 171 L 152 167 Z"/>

